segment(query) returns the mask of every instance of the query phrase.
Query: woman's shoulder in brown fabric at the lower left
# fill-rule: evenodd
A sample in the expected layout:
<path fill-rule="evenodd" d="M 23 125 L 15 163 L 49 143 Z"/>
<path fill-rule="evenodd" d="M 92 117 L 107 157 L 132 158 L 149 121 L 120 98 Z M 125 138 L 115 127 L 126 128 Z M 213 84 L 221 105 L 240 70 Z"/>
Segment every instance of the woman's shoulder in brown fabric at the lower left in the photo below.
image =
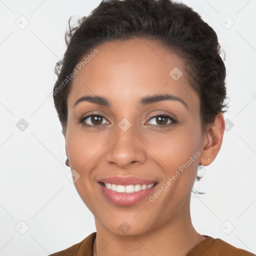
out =
<path fill-rule="evenodd" d="M 96 232 L 91 233 L 82 241 L 49 256 L 91 256 Z"/>

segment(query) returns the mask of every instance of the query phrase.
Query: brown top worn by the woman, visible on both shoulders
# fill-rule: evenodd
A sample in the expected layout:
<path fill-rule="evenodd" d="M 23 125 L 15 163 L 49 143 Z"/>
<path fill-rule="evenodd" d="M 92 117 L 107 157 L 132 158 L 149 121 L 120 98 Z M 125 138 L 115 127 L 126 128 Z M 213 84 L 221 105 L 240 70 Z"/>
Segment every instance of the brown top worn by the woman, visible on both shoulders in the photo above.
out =
<path fill-rule="evenodd" d="M 206 238 L 195 245 L 186 256 L 255 256 L 255 254 L 247 250 L 238 249 L 219 238 L 204 236 Z M 82 241 L 49 256 L 93 256 L 95 238 L 96 232 L 93 232 Z"/>

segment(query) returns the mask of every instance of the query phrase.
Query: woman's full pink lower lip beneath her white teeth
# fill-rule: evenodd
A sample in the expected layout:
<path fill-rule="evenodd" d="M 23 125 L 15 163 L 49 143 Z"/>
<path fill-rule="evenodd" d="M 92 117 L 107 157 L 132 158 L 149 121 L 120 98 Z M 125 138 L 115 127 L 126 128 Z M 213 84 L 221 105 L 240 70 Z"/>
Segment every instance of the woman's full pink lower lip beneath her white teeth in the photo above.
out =
<path fill-rule="evenodd" d="M 132 193 L 119 193 L 116 191 L 113 191 L 111 189 L 106 188 L 102 183 L 99 183 L 102 193 L 105 195 L 105 197 L 112 203 L 121 205 L 121 206 L 129 206 L 133 205 L 141 200 L 143 200 L 145 197 L 149 196 L 152 193 L 152 190 L 155 188 L 154 184 L 152 187 L 132 192 Z"/>

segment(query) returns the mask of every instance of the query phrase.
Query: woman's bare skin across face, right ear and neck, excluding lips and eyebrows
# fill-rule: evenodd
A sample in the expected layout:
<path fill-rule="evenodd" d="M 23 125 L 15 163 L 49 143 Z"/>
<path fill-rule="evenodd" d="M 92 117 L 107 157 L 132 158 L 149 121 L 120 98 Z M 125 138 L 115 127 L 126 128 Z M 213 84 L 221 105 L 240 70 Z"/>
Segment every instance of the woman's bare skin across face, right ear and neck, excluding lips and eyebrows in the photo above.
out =
<path fill-rule="evenodd" d="M 190 190 L 198 164 L 210 164 L 220 149 L 223 115 L 201 130 L 200 100 L 186 80 L 185 60 L 159 42 L 135 38 L 96 48 L 96 56 L 73 78 L 63 128 L 69 166 L 80 175 L 75 188 L 95 218 L 96 252 L 184 256 L 204 239 L 191 223 Z M 169 75 L 174 67 L 183 73 L 177 80 Z M 139 105 L 141 97 L 162 93 L 182 99 L 187 107 L 177 100 Z M 82 101 L 74 107 L 84 95 L 106 97 L 111 105 Z M 78 122 L 92 113 L 103 117 L 100 127 Z M 177 123 L 168 117 L 157 122 L 156 114 L 176 117 Z M 118 126 L 123 118 L 131 124 L 127 131 Z M 91 117 L 83 122 L 97 123 Z M 108 176 L 148 178 L 158 182 L 155 193 L 196 151 L 200 156 L 154 202 L 147 197 L 131 206 L 115 205 L 96 181 Z M 123 221 L 130 226 L 125 234 L 118 228 Z"/>

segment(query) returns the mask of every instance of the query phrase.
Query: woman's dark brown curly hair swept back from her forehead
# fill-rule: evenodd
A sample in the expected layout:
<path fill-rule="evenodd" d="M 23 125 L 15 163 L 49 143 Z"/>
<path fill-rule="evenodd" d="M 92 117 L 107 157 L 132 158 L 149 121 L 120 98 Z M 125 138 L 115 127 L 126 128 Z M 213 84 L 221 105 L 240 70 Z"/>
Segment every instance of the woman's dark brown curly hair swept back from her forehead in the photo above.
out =
<path fill-rule="evenodd" d="M 171 0 L 103 0 L 76 24 L 70 24 L 71 18 L 65 33 L 67 49 L 56 63 L 53 88 L 55 108 L 64 129 L 73 76 L 68 75 L 81 57 L 103 42 L 134 37 L 157 40 L 186 60 L 188 82 L 200 98 L 202 127 L 225 111 L 226 72 L 218 38 L 192 8 Z"/>

